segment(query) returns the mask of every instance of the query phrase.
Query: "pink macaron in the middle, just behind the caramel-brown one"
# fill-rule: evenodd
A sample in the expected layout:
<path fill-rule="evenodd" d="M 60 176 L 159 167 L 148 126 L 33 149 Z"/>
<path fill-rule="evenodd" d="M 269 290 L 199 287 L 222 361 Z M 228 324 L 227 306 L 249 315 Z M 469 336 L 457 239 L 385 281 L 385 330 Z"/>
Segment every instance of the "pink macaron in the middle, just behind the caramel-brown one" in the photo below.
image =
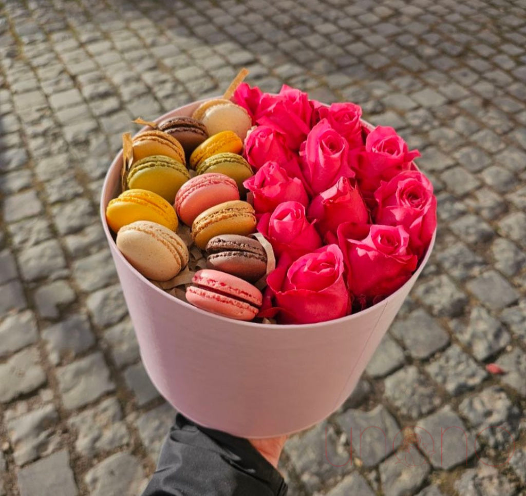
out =
<path fill-rule="evenodd" d="M 225 174 L 196 175 L 185 182 L 175 195 L 174 207 L 181 221 L 192 225 L 194 219 L 211 206 L 239 200 L 236 181 Z"/>

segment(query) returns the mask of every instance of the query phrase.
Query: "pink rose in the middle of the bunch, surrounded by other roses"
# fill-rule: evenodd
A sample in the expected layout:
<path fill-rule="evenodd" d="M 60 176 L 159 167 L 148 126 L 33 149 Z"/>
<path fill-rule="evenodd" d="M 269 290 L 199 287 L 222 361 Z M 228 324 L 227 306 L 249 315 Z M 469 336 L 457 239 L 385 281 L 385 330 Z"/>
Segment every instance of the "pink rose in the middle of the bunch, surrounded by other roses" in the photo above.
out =
<path fill-rule="evenodd" d="M 366 224 L 369 221 L 369 211 L 355 181 L 345 177 L 312 200 L 307 216 L 316 220 L 316 229 L 322 237 L 329 231 L 336 235 L 338 226 L 344 222 Z"/>

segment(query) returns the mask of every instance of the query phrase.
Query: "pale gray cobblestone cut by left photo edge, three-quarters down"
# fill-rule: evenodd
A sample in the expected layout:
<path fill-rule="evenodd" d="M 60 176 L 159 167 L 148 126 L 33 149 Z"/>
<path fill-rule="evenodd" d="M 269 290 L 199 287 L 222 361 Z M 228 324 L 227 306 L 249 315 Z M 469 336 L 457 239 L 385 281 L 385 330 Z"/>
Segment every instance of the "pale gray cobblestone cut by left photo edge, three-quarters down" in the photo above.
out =
<path fill-rule="evenodd" d="M 11 401 L 46 382 L 39 361 L 38 350 L 26 348 L 0 364 L 0 401 Z"/>

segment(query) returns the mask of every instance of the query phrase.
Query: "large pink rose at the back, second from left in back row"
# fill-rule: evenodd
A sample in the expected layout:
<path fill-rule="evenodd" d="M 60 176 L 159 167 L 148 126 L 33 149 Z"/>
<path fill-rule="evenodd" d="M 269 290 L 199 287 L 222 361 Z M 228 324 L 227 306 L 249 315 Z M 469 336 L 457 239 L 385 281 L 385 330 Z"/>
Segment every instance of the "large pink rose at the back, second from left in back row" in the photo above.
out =
<path fill-rule="evenodd" d="M 281 132 L 288 148 L 297 151 L 309 133 L 311 114 L 307 94 L 283 85 L 278 95 L 261 97 L 256 122 Z"/>

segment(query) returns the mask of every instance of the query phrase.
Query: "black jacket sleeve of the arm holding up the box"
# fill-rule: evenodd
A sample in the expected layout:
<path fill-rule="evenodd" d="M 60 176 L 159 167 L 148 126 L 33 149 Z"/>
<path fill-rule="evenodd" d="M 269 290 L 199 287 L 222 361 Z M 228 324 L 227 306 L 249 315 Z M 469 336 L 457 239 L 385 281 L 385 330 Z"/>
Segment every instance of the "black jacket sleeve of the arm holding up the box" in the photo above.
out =
<path fill-rule="evenodd" d="M 181 414 L 142 496 L 285 496 L 280 473 L 247 439 L 206 429 Z"/>

